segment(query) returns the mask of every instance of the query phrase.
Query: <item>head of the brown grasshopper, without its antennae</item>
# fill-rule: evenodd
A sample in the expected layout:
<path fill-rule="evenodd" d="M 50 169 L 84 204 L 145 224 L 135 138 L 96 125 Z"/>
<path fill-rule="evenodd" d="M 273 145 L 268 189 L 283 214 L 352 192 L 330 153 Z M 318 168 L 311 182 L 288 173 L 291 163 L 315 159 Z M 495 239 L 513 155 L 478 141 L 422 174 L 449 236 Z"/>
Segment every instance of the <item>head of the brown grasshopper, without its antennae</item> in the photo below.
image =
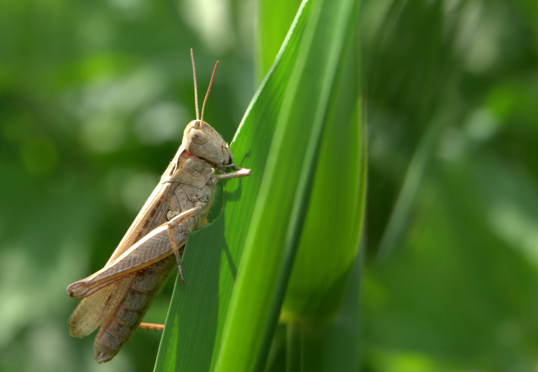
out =
<path fill-rule="evenodd" d="M 217 166 L 226 166 L 233 161 L 228 143 L 224 142 L 221 135 L 211 125 L 199 120 L 188 123 L 183 132 L 181 145 L 191 154 Z"/>

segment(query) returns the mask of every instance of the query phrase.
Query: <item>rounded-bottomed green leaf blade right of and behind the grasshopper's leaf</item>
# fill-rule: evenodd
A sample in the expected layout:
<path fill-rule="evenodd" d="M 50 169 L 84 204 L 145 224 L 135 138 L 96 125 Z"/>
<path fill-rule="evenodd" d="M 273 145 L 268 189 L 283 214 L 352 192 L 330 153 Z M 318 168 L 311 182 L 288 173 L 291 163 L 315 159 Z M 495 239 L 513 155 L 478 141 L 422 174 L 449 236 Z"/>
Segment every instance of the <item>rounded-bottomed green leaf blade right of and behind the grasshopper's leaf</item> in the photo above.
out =
<path fill-rule="evenodd" d="M 357 5 L 337 21 L 345 25 L 340 43 L 332 43 L 331 52 L 339 61 L 283 320 L 317 326 L 331 322 L 359 246 L 366 188 L 366 132 L 359 107 Z"/>

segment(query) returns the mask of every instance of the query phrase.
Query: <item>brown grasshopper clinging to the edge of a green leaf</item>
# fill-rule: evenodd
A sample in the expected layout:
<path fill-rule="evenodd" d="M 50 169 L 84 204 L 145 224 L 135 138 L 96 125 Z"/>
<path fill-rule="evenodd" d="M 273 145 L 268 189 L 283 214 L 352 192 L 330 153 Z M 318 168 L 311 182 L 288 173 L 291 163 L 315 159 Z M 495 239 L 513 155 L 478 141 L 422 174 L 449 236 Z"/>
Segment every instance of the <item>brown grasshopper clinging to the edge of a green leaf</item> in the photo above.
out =
<path fill-rule="evenodd" d="M 103 269 L 68 287 L 81 300 L 69 318 L 71 335 L 86 337 L 101 326 L 94 341 L 94 358 L 108 362 L 141 325 L 177 264 L 185 283 L 181 258 L 188 234 L 206 221 L 219 180 L 250 176 L 250 169 L 233 163 L 228 143 L 203 121 L 215 70 L 198 112 L 195 58 L 190 50 L 195 80 L 196 120 L 188 123 L 183 141 L 161 176 L 161 182 L 142 207 Z M 226 173 L 232 167 L 235 172 Z M 220 174 L 215 174 L 215 169 Z M 175 257 L 175 259 L 174 259 Z M 146 324 L 144 328 L 152 328 Z"/>

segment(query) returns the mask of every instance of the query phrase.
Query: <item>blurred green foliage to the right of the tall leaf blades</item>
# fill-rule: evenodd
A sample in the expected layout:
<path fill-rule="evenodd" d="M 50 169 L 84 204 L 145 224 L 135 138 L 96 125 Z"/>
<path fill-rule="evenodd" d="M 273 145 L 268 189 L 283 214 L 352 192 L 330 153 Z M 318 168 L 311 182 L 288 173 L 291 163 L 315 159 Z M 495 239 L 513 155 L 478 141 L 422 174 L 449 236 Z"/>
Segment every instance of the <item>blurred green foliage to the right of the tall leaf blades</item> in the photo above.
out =
<path fill-rule="evenodd" d="M 538 344 L 538 247 L 529 238 L 538 221 L 536 3 L 364 5 L 363 364 L 530 371 Z"/>

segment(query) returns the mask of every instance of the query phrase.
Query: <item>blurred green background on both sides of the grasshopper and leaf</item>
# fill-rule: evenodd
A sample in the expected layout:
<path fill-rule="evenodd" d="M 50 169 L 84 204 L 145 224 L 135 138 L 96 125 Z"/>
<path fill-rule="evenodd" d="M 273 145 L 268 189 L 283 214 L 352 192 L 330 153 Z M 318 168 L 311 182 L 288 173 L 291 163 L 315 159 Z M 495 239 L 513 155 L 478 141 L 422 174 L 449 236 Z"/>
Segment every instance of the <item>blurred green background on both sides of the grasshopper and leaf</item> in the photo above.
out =
<path fill-rule="evenodd" d="M 94 362 L 66 286 L 108 260 L 195 117 L 190 48 L 201 92 L 221 61 L 204 118 L 231 141 L 268 68 L 258 17 L 253 0 L 0 1 L 1 371 L 152 370 L 152 331 Z M 537 371 L 538 2 L 364 0 L 360 27 L 361 370 Z"/>

